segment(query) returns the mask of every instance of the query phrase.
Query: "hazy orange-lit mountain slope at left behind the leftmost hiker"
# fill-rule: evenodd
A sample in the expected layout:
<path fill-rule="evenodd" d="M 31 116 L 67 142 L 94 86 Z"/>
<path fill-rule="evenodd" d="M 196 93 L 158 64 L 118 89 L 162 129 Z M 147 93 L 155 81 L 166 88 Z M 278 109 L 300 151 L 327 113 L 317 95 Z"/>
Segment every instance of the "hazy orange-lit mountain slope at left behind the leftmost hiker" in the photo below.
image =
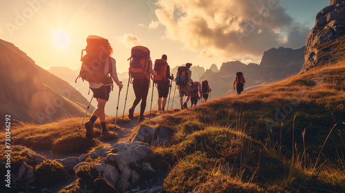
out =
<path fill-rule="evenodd" d="M 0 40 L 0 50 L 2 116 L 34 123 L 82 116 L 88 101 L 75 88 L 36 65 L 13 43 Z"/>

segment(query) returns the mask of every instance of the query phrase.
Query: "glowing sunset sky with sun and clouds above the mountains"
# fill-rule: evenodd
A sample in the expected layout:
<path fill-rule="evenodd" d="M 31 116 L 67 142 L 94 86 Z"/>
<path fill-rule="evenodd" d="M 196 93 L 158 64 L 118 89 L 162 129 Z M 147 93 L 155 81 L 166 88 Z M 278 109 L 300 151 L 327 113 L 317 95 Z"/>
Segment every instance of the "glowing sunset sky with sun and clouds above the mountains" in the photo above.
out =
<path fill-rule="evenodd" d="M 130 49 L 146 45 L 152 61 L 210 68 L 259 63 L 270 48 L 302 48 L 317 12 L 330 0 L 0 0 L 0 39 L 48 70 L 80 68 L 88 35 L 110 41 L 117 71 Z"/>

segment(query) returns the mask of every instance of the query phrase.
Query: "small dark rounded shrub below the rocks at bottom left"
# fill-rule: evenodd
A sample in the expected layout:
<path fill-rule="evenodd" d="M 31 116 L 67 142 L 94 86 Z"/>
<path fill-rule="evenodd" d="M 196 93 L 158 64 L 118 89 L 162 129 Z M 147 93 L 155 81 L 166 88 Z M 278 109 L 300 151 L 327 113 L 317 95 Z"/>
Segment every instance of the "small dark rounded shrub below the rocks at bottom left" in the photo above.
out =
<path fill-rule="evenodd" d="M 37 165 L 34 173 L 39 185 L 54 185 L 65 180 L 64 166 L 56 160 L 46 160 Z"/>

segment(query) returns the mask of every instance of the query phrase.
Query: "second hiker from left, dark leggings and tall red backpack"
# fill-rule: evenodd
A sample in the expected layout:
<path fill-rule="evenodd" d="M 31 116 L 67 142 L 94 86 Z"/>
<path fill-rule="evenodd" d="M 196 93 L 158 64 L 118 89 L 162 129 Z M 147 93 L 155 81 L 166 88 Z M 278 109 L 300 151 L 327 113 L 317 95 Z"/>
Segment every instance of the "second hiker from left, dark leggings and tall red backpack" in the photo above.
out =
<path fill-rule="evenodd" d="M 157 73 L 152 69 L 152 61 L 150 59 L 150 50 L 148 48 L 137 45 L 132 48 L 130 57 L 130 77 L 133 79 L 133 90 L 135 100 L 129 109 L 128 117 L 133 119 L 135 107 L 140 104 L 140 115 L 138 121 L 144 121 L 144 112 L 146 108 L 146 99 L 148 97 L 148 88 L 150 86 L 150 75 L 155 76 Z M 138 71 L 139 69 L 139 71 Z"/>

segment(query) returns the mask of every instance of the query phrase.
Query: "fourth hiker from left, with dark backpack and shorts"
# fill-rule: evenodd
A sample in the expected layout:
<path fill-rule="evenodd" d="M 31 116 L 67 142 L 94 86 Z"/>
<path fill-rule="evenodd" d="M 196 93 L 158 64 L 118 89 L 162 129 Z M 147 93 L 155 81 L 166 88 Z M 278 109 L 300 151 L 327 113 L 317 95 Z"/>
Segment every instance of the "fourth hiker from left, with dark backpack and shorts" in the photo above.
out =
<path fill-rule="evenodd" d="M 181 104 L 181 110 L 188 109 L 187 103 L 190 99 L 190 84 L 193 83 L 190 66 L 192 66 L 192 63 L 186 63 L 186 66 L 177 68 L 176 84 L 179 85 L 179 103 Z M 187 97 L 185 102 L 184 96 Z"/>

